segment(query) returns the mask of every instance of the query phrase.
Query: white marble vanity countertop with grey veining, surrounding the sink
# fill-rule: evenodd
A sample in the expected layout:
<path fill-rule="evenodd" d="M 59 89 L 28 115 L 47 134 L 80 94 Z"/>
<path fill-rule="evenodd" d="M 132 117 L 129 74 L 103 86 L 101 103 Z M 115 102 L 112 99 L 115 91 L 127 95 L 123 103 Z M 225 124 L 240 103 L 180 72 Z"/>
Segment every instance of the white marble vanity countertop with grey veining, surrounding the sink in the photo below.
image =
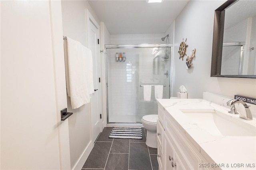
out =
<path fill-rule="evenodd" d="M 253 136 L 212 135 L 196 125 L 184 111 L 220 111 L 232 120 L 244 122 L 256 130 L 256 118 L 247 121 L 239 115 L 228 113 L 230 107 L 206 101 L 204 99 L 158 99 L 158 106 L 163 107 L 180 125 L 180 130 L 205 157 L 210 157 L 221 169 L 256 169 L 256 134 Z M 207 163 L 207 162 L 206 162 Z M 212 162 L 209 162 L 212 163 Z M 211 166 L 210 166 L 211 167 Z"/>

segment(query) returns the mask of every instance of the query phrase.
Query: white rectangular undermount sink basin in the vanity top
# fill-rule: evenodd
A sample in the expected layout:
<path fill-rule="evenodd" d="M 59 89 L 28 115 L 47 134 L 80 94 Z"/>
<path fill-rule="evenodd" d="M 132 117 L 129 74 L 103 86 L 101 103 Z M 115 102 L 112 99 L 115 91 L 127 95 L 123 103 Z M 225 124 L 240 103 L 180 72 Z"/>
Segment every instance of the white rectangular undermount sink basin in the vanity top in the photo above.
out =
<path fill-rule="evenodd" d="M 220 111 L 182 111 L 193 125 L 206 130 L 213 136 L 256 136 L 256 127 L 239 117 L 232 117 Z"/>

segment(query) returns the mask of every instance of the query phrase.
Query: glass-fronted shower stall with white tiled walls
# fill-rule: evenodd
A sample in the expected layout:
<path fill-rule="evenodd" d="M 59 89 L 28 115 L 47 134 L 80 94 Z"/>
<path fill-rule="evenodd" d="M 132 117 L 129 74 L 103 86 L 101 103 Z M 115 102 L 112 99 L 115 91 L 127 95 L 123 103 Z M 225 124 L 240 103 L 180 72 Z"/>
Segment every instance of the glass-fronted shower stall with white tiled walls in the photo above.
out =
<path fill-rule="evenodd" d="M 154 85 L 163 85 L 170 98 L 171 45 L 105 45 L 107 122 L 141 123 L 144 115 L 158 113 Z M 152 85 L 144 101 L 143 86 Z"/>

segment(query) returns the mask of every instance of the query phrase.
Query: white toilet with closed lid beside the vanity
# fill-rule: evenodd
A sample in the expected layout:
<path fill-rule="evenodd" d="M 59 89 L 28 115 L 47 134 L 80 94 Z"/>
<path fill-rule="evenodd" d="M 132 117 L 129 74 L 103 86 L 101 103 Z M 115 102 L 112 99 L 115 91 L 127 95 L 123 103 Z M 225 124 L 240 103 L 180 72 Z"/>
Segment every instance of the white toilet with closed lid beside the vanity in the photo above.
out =
<path fill-rule="evenodd" d="M 146 145 L 157 148 L 156 120 L 158 115 L 145 115 L 142 117 L 142 125 L 147 130 Z"/>

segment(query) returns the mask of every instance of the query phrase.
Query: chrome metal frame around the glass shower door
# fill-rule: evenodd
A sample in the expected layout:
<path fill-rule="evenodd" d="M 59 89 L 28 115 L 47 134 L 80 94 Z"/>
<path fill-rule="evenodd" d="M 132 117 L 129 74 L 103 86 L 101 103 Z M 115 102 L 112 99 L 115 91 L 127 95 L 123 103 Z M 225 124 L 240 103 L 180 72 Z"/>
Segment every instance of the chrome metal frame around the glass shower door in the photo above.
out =
<path fill-rule="evenodd" d="M 170 47 L 170 82 L 169 82 L 169 97 L 171 96 L 171 83 L 172 83 L 172 44 L 138 44 L 138 45 L 105 45 L 105 79 L 106 79 L 106 123 L 109 124 L 108 121 L 108 60 L 107 60 L 107 49 L 108 48 L 152 48 L 152 47 Z M 118 122 L 111 122 L 111 124 L 137 124 L 138 123 L 118 123 Z M 141 123 L 140 123 L 141 124 Z"/>

